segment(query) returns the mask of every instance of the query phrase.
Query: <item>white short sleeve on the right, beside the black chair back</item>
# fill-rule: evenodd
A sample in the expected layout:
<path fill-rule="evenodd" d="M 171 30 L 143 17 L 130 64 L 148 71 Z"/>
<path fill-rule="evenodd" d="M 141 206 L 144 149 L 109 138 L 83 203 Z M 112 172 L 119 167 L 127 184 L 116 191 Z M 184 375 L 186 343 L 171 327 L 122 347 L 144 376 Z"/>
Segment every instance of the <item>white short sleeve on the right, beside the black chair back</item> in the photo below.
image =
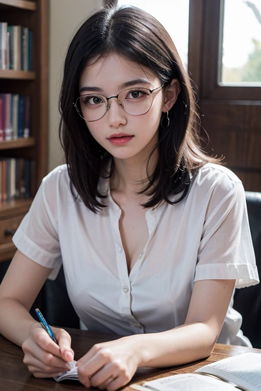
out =
<path fill-rule="evenodd" d="M 236 280 L 236 288 L 258 284 L 242 183 L 226 175 L 208 202 L 195 280 Z"/>

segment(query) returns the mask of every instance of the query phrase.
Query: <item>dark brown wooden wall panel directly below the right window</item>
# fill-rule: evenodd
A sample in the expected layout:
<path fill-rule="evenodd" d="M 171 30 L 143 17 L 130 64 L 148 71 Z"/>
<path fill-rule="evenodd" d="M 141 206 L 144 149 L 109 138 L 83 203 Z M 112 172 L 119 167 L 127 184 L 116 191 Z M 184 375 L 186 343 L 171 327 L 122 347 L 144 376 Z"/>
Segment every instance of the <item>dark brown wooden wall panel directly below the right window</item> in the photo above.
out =
<path fill-rule="evenodd" d="M 200 104 L 201 125 L 210 137 L 206 150 L 228 165 L 261 168 L 261 106 Z M 204 132 L 202 131 L 202 136 Z"/>

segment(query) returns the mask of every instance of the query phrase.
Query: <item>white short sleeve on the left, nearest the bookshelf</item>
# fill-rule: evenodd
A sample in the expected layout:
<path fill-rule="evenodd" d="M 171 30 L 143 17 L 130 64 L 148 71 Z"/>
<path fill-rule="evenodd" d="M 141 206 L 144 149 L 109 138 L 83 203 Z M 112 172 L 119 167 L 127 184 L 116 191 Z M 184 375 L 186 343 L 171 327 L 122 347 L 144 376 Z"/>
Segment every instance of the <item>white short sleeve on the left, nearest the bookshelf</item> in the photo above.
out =
<path fill-rule="evenodd" d="M 56 203 L 56 180 L 54 175 L 47 176 L 13 236 L 13 243 L 22 254 L 54 269 L 49 275 L 51 280 L 56 278 L 62 264 Z"/>

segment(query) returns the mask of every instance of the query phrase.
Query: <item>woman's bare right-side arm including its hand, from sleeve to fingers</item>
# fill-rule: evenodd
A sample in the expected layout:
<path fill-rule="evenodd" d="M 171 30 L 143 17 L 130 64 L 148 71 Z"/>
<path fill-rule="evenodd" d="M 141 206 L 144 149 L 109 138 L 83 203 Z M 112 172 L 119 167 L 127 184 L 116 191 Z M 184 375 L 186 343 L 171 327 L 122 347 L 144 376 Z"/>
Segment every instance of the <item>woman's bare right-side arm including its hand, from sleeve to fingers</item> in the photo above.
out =
<path fill-rule="evenodd" d="M 184 325 L 95 345 L 77 361 L 80 381 L 113 391 L 131 380 L 138 367 L 171 367 L 207 357 L 224 323 L 234 284 L 195 282 Z"/>

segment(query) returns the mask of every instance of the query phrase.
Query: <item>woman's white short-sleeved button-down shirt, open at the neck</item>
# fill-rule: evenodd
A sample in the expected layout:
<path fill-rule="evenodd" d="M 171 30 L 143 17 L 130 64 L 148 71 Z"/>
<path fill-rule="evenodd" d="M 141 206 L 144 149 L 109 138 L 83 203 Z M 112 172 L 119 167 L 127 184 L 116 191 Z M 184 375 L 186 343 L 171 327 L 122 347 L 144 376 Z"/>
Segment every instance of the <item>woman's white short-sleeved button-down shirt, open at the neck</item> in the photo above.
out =
<path fill-rule="evenodd" d="M 258 283 L 244 189 L 225 167 L 206 164 L 184 200 L 147 209 L 149 238 L 129 274 L 121 210 L 108 179 L 100 179 L 99 189 L 108 207 L 95 214 L 73 201 L 67 167 L 57 167 L 13 237 L 24 255 L 53 269 L 50 278 L 63 262 L 69 297 L 89 330 L 122 336 L 168 330 L 184 323 L 195 281 Z M 241 322 L 231 301 L 219 342 L 247 344 Z"/>

